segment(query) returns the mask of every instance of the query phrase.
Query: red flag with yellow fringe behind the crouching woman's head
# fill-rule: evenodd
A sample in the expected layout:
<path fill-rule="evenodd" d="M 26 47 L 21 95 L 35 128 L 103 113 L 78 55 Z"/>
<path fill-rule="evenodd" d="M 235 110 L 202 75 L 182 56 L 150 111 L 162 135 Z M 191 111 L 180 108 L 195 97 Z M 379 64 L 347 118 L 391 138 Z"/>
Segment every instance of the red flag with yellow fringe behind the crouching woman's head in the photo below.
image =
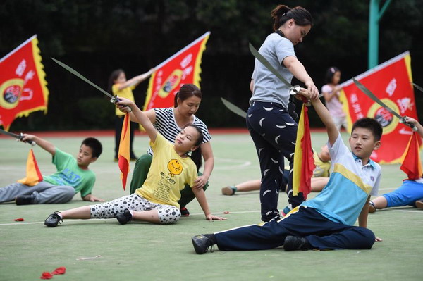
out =
<path fill-rule="evenodd" d="M 173 99 L 184 84 L 200 87 L 201 58 L 210 32 L 185 46 L 178 53 L 157 65 L 149 80 L 144 111 L 173 107 Z"/>

